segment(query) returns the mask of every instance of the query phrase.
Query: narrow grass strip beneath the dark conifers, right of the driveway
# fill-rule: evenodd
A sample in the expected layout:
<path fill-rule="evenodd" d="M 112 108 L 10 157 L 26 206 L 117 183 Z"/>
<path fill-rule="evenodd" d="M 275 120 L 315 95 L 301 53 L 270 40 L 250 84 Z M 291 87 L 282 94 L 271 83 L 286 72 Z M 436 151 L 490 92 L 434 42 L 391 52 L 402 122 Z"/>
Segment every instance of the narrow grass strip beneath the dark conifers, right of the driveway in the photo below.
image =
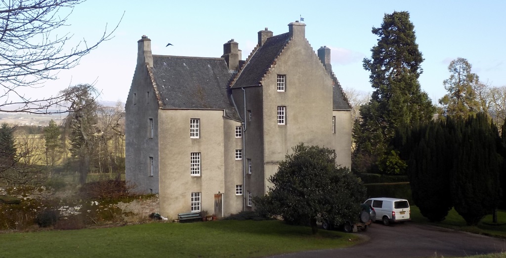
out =
<path fill-rule="evenodd" d="M 441 222 L 430 222 L 421 215 L 418 207 L 411 206 L 411 220 L 417 223 L 424 223 L 438 227 L 451 228 L 467 231 L 476 234 L 488 235 L 493 237 L 506 238 L 506 211 L 497 211 L 497 223 L 492 223 L 492 215 L 487 215 L 477 226 L 468 226 L 466 221 L 451 209 L 446 219 Z"/>

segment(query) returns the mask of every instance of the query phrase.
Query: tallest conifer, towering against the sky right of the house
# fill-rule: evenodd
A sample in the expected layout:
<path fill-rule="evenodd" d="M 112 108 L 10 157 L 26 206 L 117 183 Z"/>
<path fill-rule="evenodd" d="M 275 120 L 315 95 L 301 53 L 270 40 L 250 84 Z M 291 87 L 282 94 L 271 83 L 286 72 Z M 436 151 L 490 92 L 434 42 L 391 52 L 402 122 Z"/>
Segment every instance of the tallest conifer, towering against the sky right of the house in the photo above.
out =
<path fill-rule="evenodd" d="M 361 120 L 353 128 L 353 167 L 362 172 L 373 171 L 386 160 L 388 144 L 398 126 L 429 121 L 435 113 L 418 83 L 424 59 L 415 42 L 409 13 L 385 14 L 382 26 L 372 28 L 372 33 L 379 40 L 363 66 L 370 71 L 369 81 L 375 90 L 369 103 L 360 109 Z"/>

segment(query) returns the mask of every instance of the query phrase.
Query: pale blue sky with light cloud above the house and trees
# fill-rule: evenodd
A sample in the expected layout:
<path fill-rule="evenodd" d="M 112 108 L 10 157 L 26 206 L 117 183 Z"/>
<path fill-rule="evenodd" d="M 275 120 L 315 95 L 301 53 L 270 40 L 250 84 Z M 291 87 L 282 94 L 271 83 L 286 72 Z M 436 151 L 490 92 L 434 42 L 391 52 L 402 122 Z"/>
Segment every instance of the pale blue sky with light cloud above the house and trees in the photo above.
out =
<path fill-rule="evenodd" d="M 137 41 L 151 39 L 153 55 L 221 57 L 223 44 L 239 43 L 245 60 L 266 27 L 274 35 L 304 18 L 306 38 L 316 51 L 331 49 L 332 69 L 343 88 L 372 92 L 362 60 L 371 57 L 385 14 L 408 11 L 425 61 L 419 82 L 434 103 L 446 94 L 449 63 L 465 58 L 480 80 L 506 86 L 506 1 L 131 1 L 88 0 L 77 5 L 63 32 L 75 42 L 96 41 L 119 22 L 114 38 L 60 71 L 59 79 L 27 95 L 56 94 L 69 85 L 95 83 L 100 99 L 126 101 L 137 62 Z M 165 47 L 167 43 L 172 46 Z M 69 44 L 69 47 L 71 44 Z"/>

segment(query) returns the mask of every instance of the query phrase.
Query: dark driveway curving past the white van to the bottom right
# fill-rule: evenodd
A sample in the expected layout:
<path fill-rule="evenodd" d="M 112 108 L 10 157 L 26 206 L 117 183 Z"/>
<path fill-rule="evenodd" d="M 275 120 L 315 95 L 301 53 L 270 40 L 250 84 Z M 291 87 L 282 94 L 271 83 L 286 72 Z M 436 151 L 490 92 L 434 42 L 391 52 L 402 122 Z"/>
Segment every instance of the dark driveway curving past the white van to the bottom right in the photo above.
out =
<path fill-rule="evenodd" d="M 272 257 L 448 257 L 469 256 L 506 250 L 506 240 L 451 229 L 406 222 L 392 226 L 373 223 L 365 243 L 342 249 L 282 254 Z"/>

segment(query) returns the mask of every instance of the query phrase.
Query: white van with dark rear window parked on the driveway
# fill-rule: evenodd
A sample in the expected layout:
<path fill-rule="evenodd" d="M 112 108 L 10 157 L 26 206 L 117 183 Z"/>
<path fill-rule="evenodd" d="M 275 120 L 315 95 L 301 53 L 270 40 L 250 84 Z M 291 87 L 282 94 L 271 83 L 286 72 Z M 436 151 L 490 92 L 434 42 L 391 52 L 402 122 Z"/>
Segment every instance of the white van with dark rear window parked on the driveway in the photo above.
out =
<path fill-rule="evenodd" d="M 406 199 L 396 198 L 370 198 L 364 203 L 369 204 L 376 212 L 376 220 L 383 221 L 384 225 L 391 222 L 404 222 L 411 220 L 411 210 Z"/>

